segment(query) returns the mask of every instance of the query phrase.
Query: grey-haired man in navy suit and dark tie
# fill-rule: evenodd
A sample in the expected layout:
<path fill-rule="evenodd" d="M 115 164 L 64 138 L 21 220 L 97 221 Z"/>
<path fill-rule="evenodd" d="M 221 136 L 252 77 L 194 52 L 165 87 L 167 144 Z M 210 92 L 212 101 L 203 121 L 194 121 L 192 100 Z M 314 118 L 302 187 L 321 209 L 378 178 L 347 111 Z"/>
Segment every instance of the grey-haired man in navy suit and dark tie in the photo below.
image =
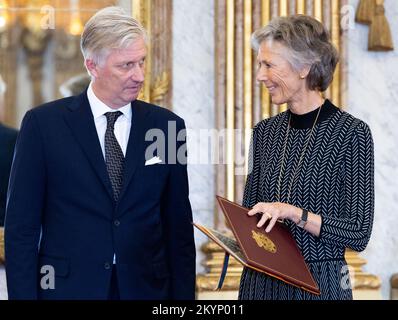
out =
<path fill-rule="evenodd" d="M 5 222 L 9 298 L 194 299 L 185 139 L 168 133 L 185 125 L 137 100 L 145 31 L 105 8 L 81 47 L 89 88 L 22 123 Z M 164 150 L 148 132 L 164 133 Z"/>

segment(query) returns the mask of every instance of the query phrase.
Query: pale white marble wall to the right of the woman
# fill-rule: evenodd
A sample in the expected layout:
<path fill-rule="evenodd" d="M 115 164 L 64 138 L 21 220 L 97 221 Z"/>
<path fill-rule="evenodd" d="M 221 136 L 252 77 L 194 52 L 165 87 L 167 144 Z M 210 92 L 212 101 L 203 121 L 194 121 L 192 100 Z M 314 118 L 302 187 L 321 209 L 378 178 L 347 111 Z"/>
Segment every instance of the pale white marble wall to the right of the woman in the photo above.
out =
<path fill-rule="evenodd" d="M 359 0 L 350 0 L 355 8 Z M 348 32 L 346 110 L 364 120 L 375 144 L 376 203 L 372 237 L 361 254 L 367 272 L 382 280 L 383 299 L 390 277 L 398 273 L 398 2 L 386 0 L 395 51 L 369 52 L 369 27 L 355 24 Z"/>

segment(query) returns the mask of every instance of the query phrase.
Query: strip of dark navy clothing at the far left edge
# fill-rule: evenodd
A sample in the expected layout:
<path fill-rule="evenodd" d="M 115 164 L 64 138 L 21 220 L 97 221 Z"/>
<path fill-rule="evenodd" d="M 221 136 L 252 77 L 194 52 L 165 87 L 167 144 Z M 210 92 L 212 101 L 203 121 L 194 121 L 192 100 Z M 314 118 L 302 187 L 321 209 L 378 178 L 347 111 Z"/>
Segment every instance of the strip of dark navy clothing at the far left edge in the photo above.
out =
<path fill-rule="evenodd" d="M 0 123 L 0 226 L 4 225 L 8 179 L 18 131 Z"/>

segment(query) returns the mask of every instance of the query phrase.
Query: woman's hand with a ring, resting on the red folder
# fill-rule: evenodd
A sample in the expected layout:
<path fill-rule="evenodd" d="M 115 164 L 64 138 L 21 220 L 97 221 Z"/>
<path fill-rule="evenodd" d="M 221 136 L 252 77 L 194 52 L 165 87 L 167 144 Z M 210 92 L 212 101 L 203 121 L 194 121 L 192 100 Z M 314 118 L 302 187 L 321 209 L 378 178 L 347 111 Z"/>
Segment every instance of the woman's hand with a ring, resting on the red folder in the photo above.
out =
<path fill-rule="evenodd" d="M 248 215 L 254 216 L 257 213 L 262 214 L 260 221 L 257 223 L 258 228 L 261 228 L 268 220 L 271 220 L 265 229 L 266 232 L 270 232 L 279 219 L 289 219 L 294 223 L 298 223 L 301 212 L 302 209 L 287 203 L 259 202 L 248 212 Z"/>

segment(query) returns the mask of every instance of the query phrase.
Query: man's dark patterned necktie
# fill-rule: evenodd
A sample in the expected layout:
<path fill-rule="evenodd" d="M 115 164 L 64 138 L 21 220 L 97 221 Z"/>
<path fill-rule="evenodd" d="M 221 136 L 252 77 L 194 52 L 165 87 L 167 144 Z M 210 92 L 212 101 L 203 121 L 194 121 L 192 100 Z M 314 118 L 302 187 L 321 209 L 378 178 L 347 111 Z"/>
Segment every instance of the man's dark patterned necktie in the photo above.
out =
<path fill-rule="evenodd" d="M 123 183 L 124 155 L 114 132 L 115 122 L 121 115 L 122 113 L 120 111 L 105 113 L 107 120 L 105 132 L 105 162 L 115 201 L 119 200 Z"/>

